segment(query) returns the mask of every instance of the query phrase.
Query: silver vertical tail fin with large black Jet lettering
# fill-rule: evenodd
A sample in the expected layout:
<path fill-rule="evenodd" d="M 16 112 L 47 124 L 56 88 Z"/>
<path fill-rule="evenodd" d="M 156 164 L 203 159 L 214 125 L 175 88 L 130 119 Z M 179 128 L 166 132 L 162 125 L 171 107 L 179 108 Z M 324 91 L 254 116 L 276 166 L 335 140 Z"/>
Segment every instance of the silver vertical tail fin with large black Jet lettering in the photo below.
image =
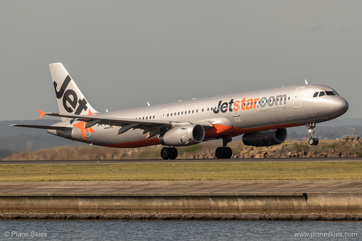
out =
<path fill-rule="evenodd" d="M 75 115 L 99 113 L 89 104 L 62 63 L 49 64 L 49 68 L 60 113 Z M 66 119 L 62 117 L 62 120 Z"/>

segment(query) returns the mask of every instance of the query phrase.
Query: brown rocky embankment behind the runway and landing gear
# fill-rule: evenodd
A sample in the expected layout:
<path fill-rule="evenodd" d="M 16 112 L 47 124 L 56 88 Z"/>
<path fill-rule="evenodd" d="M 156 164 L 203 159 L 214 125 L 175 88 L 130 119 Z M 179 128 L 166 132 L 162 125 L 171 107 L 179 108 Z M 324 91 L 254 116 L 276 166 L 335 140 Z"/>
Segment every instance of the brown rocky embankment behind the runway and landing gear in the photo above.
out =
<path fill-rule="evenodd" d="M 206 142 L 190 147 L 177 147 L 178 159 L 216 158 L 216 142 Z M 310 146 L 306 141 L 288 140 L 271 147 L 245 146 L 241 141 L 232 142 L 232 158 L 287 158 L 287 157 L 360 157 L 362 141 L 359 138 L 344 140 L 320 140 Z M 109 148 L 98 146 L 55 147 L 34 152 L 16 153 L 3 160 L 118 160 L 118 159 L 161 159 L 162 146 L 142 148 Z"/>

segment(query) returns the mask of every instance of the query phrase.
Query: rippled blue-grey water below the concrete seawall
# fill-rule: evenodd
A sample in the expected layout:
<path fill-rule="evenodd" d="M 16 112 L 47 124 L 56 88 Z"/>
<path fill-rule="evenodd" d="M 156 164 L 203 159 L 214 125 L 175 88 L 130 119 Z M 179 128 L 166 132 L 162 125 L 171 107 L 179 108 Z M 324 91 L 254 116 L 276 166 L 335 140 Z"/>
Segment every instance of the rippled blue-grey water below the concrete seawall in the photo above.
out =
<path fill-rule="evenodd" d="M 323 235 L 327 237 L 295 237 L 295 233 L 309 233 L 310 236 L 323 233 Z M 357 237 L 336 237 L 336 235 L 340 233 L 343 236 L 355 236 L 357 233 Z M 9 234 L 10 237 L 6 237 L 7 234 Z M 26 234 L 28 234 L 28 237 L 25 236 Z M 18 237 L 16 237 L 16 235 L 18 235 Z M 41 235 L 46 237 L 41 237 Z M 328 237 L 328 235 L 330 237 Z M 0 240 L 254 241 L 266 239 L 276 241 L 362 240 L 362 222 L 0 220 Z"/>

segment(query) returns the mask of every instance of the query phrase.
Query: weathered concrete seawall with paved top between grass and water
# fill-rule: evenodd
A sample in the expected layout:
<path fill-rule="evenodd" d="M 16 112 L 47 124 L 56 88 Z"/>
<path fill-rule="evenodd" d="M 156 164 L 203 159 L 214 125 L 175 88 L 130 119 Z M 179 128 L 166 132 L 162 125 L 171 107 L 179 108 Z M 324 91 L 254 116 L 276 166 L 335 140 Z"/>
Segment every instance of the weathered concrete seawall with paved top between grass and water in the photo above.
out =
<path fill-rule="evenodd" d="M 0 212 L 362 213 L 362 180 L 3 182 Z"/>

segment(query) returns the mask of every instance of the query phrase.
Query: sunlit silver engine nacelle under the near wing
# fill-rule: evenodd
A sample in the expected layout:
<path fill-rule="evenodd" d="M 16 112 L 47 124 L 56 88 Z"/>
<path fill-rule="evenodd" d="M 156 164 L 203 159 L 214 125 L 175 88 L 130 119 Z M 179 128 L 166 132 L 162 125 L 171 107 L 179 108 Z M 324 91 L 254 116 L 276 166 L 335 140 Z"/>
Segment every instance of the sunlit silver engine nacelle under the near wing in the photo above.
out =
<path fill-rule="evenodd" d="M 188 124 L 173 128 L 159 137 L 162 145 L 182 147 L 200 143 L 205 138 L 205 129 L 199 124 Z"/>

